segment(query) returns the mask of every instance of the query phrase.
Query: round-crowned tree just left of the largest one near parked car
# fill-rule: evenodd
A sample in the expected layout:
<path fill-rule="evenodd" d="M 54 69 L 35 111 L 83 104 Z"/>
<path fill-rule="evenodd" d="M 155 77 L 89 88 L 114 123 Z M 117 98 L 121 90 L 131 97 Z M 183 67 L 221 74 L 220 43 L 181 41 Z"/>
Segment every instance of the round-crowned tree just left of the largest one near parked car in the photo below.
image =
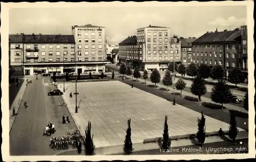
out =
<path fill-rule="evenodd" d="M 201 96 L 207 92 L 205 81 L 199 76 L 195 77 L 190 91 L 194 95 L 198 96 L 199 101 L 201 101 Z"/>

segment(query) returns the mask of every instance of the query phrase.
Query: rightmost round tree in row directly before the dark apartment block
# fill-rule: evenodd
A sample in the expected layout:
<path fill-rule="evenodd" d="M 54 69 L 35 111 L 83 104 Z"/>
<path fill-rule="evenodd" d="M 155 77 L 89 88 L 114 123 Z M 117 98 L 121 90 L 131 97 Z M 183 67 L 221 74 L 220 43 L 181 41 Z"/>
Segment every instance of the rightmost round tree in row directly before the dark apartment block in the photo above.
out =
<path fill-rule="evenodd" d="M 232 84 L 240 84 L 243 83 L 245 80 L 245 77 L 243 75 L 243 72 L 238 68 L 232 68 L 232 70 L 228 73 L 228 78 L 227 78 L 228 82 L 232 83 Z"/>

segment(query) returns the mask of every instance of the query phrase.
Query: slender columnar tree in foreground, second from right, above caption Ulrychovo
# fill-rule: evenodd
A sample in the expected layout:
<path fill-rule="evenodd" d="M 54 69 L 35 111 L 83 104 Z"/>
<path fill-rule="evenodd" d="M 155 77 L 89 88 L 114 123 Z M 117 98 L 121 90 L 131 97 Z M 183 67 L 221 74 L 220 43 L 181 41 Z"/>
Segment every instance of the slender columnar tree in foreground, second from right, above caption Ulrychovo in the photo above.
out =
<path fill-rule="evenodd" d="M 204 141 L 205 141 L 205 129 L 206 129 L 205 118 L 204 118 L 203 112 L 201 112 L 201 119 L 197 118 L 197 121 L 198 121 L 197 139 L 202 147 L 202 145 L 204 144 Z"/>

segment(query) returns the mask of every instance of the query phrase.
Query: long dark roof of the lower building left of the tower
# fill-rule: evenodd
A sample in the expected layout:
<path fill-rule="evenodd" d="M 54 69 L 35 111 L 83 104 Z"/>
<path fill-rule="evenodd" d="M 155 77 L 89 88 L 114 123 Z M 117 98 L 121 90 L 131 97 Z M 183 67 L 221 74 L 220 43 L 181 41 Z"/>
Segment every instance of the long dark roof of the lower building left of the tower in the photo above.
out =
<path fill-rule="evenodd" d="M 9 35 L 10 43 L 75 43 L 73 35 Z"/>

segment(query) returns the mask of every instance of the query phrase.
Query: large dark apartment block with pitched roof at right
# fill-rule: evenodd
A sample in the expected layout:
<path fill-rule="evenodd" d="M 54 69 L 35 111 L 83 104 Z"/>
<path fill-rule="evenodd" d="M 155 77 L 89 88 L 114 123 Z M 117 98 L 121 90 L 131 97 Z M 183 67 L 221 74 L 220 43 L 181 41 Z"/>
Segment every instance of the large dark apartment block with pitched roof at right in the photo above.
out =
<path fill-rule="evenodd" d="M 193 62 L 209 66 L 222 65 L 225 76 L 231 67 L 241 67 L 241 30 L 207 32 L 193 44 Z"/>

